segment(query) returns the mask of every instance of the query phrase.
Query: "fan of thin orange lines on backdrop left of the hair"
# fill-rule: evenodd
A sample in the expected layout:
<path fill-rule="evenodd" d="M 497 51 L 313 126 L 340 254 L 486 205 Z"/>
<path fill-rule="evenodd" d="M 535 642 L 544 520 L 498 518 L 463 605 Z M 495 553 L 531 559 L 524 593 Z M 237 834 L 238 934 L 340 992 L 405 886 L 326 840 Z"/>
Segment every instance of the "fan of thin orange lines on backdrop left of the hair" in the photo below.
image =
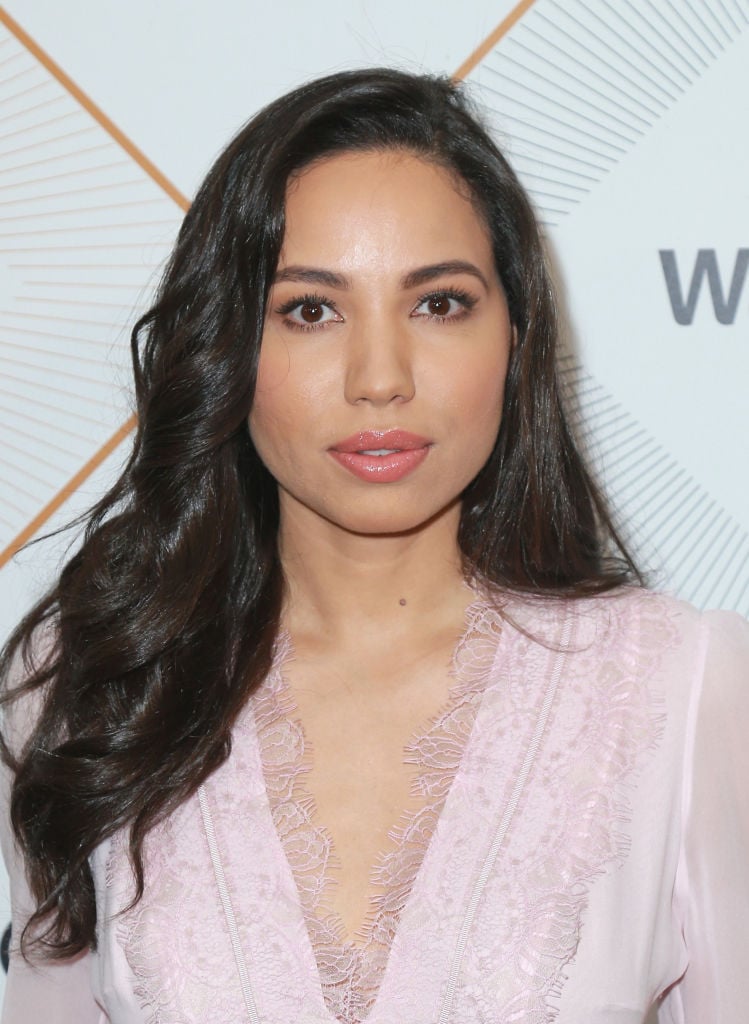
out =
<path fill-rule="evenodd" d="M 0 550 L 131 412 L 182 211 L 0 27 Z"/>

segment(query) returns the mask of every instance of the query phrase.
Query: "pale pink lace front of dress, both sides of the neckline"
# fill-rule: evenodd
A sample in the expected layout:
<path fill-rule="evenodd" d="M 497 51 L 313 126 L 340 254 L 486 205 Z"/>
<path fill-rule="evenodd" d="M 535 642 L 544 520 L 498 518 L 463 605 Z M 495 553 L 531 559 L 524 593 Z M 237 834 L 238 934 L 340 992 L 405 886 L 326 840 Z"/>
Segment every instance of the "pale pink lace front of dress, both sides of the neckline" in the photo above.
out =
<path fill-rule="evenodd" d="M 567 618 L 573 630 L 564 653 Z M 421 810 L 403 822 L 373 871 L 369 941 L 350 947 L 326 912 L 334 851 L 305 793 L 304 735 L 280 674 L 290 654 L 282 641 L 266 685 L 237 723 L 230 759 L 204 786 L 237 941 L 197 797 L 147 838 L 145 892 L 124 912 L 132 879 L 126 842 L 117 837 L 94 870 L 99 963 L 109 972 L 101 985 L 116 975 L 130 979 L 116 996 L 126 1002 L 116 1006 L 126 1005 L 132 1017 L 112 1019 L 556 1020 L 586 933 L 589 895 L 602 876 L 612 887 L 604 889 L 606 934 L 617 933 L 629 892 L 616 880 L 631 856 L 630 800 L 637 795 L 642 813 L 648 795 L 636 780 L 661 745 L 661 665 L 678 635 L 673 602 L 642 592 L 575 602 L 513 598 L 501 612 L 471 606 L 449 703 L 406 753 Z M 552 674 L 560 680 L 554 691 Z M 540 721 L 546 726 L 532 769 L 473 908 L 454 990 L 446 993 L 475 881 Z M 649 786 L 673 770 L 659 760 Z M 665 844 L 669 833 L 657 835 Z M 661 854 L 649 839 L 636 856 L 644 872 Z M 649 934 L 636 941 L 648 948 Z M 590 962 L 589 949 L 586 956 Z M 252 982 L 256 1017 L 247 1014 L 240 967 Z M 586 1019 L 598 1018 L 591 1012 Z"/>

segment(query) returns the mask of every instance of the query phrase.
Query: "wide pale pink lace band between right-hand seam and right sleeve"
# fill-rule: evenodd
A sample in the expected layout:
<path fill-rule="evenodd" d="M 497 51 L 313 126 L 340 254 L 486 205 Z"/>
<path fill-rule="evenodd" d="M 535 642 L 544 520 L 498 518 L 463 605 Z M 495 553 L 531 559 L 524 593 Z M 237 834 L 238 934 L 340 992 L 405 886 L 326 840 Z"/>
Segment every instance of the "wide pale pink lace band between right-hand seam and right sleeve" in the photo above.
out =
<path fill-rule="evenodd" d="M 620 597 L 593 598 L 575 609 L 575 654 L 535 766 L 536 784 L 511 831 L 508 869 L 488 887 L 491 905 L 505 908 L 511 927 L 476 929 L 482 954 L 466 966 L 456 1022 L 555 1021 L 591 887 L 630 852 L 630 792 L 665 727 L 665 698 L 652 681 L 677 638 L 658 597 L 634 600 L 636 632 L 627 629 L 632 604 Z M 608 617 L 588 618 L 604 601 Z M 514 674 L 533 679 L 538 672 L 530 658 L 524 665 L 523 646 L 512 653 Z M 523 691 L 521 682 L 518 706 Z"/>

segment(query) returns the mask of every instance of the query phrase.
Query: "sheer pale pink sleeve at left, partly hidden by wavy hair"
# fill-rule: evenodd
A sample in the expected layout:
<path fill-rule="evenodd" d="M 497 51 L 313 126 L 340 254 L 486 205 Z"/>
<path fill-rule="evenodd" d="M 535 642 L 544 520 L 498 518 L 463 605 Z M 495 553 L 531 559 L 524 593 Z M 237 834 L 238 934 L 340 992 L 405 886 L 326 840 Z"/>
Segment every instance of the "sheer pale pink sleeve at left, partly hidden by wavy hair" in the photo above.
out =
<path fill-rule="evenodd" d="M 13 673 L 9 685 L 13 685 Z M 15 674 L 17 678 L 17 673 Z M 2 710 L 3 735 L 18 750 L 28 735 L 37 706 L 34 697 L 22 697 Z M 91 954 L 82 953 L 61 963 L 28 964 L 17 945 L 24 926 L 34 908 L 23 859 L 10 827 L 9 801 L 12 775 L 0 765 L 0 845 L 10 883 L 12 937 L 10 966 L 5 983 L 2 1024 L 106 1024 L 107 1015 L 94 1000 Z"/>

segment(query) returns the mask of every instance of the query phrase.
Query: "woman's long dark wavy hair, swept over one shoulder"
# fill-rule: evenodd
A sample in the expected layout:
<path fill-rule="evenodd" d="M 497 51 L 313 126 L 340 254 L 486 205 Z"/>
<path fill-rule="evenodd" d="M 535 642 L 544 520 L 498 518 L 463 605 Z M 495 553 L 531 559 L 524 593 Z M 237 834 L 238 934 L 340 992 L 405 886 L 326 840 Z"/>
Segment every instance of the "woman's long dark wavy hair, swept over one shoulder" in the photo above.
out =
<path fill-rule="evenodd" d="M 639 580 L 563 414 L 533 211 L 462 87 L 374 69 L 271 103 L 209 172 L 132 333 L 127 465 L 2 652 L 6 690 L 9 674 L 23 679 L 4 701 L 26 695 L 36 709 L 2 750 L 37 901 L 25 949 L 65 957 L 94 945 L 89 858 L 120 829 L 140 898 L 147 833 L 228 756 L 269 668 L 284 596 L 279 507 L 247 419 L 287 183 L 327 155 L 382 150 L 433 161 L 467 186 L 517 336 L 494 451 L 463 498 L 466 577 L 573 597 Z"/>

